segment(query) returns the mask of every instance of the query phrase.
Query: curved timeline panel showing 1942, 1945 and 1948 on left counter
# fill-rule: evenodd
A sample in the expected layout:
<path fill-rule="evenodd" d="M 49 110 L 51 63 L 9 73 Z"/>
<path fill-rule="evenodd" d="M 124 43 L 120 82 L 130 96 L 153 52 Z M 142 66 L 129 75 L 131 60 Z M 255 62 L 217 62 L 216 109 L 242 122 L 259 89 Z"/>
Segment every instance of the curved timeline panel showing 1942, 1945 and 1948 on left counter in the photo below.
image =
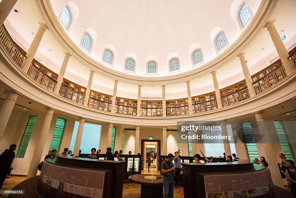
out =
<path fill-rule="evenodd" d="M 42 198 L 103 197 L 105 173 L 43 163 L 37 192 Z"/>

